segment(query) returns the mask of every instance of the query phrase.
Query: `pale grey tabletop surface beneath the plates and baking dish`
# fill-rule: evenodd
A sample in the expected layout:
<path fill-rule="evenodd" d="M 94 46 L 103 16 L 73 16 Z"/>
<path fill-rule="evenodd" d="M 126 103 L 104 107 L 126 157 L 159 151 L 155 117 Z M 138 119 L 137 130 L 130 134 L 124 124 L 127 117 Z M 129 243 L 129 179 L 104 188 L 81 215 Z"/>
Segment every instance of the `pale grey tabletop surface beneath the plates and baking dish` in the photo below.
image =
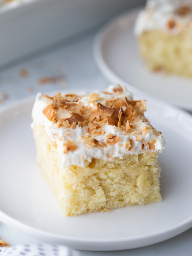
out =
<path fill-rule="evenodd" d="M 0 105 L 0 109 L 9 103 L 36 94 L 39 91 L 51 91 L 78 88 L 104 88 L 108 83 L 101 76 L 92 56 L 92 42 L 94 35 L 74 42 L 37 59 L 21 63 L 0 73 L 0 95 L 8 94 L 8 99 Z M 28 76 L 21 77 L 20 69 L 26 68 Z M 53 84 L 38 84 L 44 76 L 65 76 L 66 83 L 59 81 Z M 19 205 L 18 205 L 19 207 Z M 173 216 L 174 218 L 174 216 Z M 0 237 L 11 245 L 36 243 L 32 238 L 1 223 Z M 192 229 L 167 241 L 138 249 L 118 252 L 84 252 L 86 255 L 190 255 L 192 252 Z"/>

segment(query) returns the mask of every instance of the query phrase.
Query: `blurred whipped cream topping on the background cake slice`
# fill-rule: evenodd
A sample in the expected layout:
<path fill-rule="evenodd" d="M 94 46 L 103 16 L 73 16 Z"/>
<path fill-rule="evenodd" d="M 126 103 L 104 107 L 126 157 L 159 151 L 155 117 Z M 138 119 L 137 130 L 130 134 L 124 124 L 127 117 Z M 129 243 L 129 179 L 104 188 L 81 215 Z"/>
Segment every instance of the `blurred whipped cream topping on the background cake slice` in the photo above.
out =
<path fill-rule="evenodd" d="M 134 33 L 160 29 L 178 34 L 192 26 L 192 0 L 148 0 L 135 22 Z"/>

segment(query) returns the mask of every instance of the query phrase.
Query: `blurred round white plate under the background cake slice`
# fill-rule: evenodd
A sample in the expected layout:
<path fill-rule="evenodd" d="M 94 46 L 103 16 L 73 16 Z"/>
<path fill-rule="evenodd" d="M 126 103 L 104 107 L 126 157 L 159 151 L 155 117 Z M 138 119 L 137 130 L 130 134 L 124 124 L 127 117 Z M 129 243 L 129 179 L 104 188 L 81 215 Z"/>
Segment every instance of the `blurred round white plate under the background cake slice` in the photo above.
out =
<path fill-rule="evenodd" d="M 192 111 L 192 79 L 153 73 L 146 68 L 133 34 L 137 14 L 138 10 L 125 13 L 109 22 L 96 36 L 94 56 L 100 70 L 111 82 L 123 80 L 130 88 L 134 86 Z"/>

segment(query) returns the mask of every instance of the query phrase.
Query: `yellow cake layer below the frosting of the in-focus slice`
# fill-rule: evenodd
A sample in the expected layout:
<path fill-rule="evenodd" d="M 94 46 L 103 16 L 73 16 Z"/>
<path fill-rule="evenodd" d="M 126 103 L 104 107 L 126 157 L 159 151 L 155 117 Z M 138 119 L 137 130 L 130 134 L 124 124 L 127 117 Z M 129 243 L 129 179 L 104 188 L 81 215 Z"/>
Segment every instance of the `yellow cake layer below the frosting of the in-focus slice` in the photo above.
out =
<path fill-rule="evenodd" d="M 92 159 L 85 167 L 64 169 L 44 126 L 34 125 L 33 133 L 43 176 L 65 215 L 161 201 L 158 153 Z"/>

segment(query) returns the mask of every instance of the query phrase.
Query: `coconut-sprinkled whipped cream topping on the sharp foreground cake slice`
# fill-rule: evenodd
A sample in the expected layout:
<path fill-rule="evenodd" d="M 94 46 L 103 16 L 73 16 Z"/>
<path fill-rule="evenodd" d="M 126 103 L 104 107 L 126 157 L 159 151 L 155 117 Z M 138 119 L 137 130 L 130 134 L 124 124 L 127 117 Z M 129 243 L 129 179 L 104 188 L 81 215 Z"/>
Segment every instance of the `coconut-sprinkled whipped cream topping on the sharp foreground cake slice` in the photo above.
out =
<path fill-rule="evenodd" d="M 132 100 L 120 85 L 92 94 L 38 93 L 31 126 L 44 126 L 64 168 L 84 166 L 93 158 L 161 152 L 164 138 L 143 116 L 145 109 L 144 99 Z"/>

